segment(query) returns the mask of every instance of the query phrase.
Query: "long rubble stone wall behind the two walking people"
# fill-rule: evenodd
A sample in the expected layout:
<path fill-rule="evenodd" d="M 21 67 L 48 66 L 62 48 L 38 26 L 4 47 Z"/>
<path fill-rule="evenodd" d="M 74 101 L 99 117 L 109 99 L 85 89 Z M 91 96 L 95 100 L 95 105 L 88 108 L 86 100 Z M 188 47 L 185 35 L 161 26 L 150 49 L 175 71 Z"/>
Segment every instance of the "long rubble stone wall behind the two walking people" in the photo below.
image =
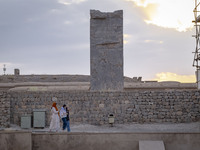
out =
<path fill-rule="evenodd" d="M 200 120 L 200 92 L 197 90 L 123 91 L 123 92 L 9 92 L 11 123 L 20 124 L 20 116 L 35 108 L 46 109 L 50 123 L 51 98 L 58 108 L 65 103 L 72 123 L 102 125 L 114 114 L 116 123 L 194 122 Z"/>

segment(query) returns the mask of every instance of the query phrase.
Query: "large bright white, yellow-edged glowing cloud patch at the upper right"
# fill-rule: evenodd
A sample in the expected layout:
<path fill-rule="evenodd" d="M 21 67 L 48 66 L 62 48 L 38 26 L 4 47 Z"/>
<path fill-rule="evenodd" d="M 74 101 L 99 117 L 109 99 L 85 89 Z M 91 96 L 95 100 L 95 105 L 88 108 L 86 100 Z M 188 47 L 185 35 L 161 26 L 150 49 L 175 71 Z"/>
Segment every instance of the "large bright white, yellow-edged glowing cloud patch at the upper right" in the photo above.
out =
<path fill-rule="evenodd" d="M 191 0 L 125 0 L 132 1 L 146 14 L 144 21 L 164 28 L 186 31 L 193 27 L 194 2 Z"/>

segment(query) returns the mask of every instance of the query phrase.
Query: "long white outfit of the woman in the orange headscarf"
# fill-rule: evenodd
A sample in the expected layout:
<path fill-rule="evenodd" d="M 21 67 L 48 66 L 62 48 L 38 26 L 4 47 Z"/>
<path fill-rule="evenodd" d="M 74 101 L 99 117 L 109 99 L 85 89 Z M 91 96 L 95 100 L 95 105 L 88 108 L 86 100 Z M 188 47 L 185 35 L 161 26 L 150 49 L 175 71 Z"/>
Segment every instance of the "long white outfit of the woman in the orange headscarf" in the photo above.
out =
<path fill-rule="evenodd" d="M 58 111 L 56 111 L 55 107 L 51 108 L 51 123 L 50 123 L 50 131 L 58 131 L 60 129 L 60 118 L 58 116 Z"/>

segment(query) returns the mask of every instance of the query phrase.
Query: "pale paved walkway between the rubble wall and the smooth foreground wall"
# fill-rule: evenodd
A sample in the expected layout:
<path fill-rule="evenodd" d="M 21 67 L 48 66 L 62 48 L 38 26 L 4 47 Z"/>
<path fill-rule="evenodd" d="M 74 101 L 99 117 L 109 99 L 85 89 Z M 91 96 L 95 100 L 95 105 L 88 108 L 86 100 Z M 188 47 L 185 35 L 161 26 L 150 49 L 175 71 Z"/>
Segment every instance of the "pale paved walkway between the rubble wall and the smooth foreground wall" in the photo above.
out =
<path fill-rule="evenodd" d="M 28 130 L 33 132 L 49 132 L 48 128 L 44 129 L 21 129 L 19 126 L 11 125 L 10 128 L 0 128 L 0 130 Z M 60 130 L 59 132 L 63 132 Z M 64 131 L 66 132 L 66 131 Z M 115 124 L 113 127 L 110 125 L 94 126 L 88 124 L 72 124 L 71 132 L 92 132 L 92 133 L 105 133 L 105 132 L 176 132 L 176 133 L 200 133 L 200 121 L 194 123 L 154 123 L 154 124 Z"/>

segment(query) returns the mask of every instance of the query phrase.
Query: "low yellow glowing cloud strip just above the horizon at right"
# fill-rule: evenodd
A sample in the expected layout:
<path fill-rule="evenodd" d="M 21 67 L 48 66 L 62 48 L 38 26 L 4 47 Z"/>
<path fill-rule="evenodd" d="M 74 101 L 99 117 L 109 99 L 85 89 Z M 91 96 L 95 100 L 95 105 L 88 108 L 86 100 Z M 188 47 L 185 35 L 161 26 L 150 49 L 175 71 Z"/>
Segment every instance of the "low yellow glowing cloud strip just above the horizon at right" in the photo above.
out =
<path fill-rule="evenodd" d="M 153 80 L 161 81 L 178 81 L 183 83 L 196 82 L 195 75 L 178 75 L 171 72 L 161 72 L 156 74 L 156 78 Z"/>

